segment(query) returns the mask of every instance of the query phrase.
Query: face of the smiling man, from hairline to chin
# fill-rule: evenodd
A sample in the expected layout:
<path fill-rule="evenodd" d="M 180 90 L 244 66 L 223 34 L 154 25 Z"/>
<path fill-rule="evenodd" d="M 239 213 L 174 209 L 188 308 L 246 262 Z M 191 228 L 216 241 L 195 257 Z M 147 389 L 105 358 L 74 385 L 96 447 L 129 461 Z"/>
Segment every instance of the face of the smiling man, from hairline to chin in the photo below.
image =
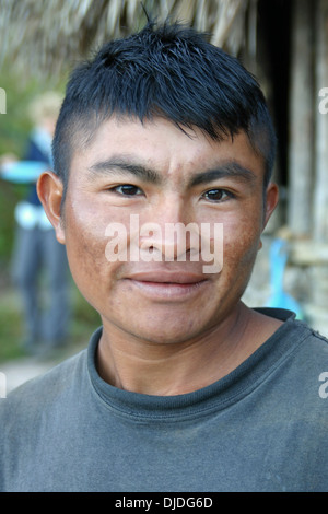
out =
<path fill-rule="evenodd" d="M 198 129 L 187 136 L 162 118 L 143 125 L 110 118 L 73 155 L 57 236 L 67 245 L 78 288 L 104 327 L 157 343 L 192 340 L 236 307 L 277 202 L 273 185 L 266 195 L 265 208 L 262 159 L 244 133 L 233 142 L 213 142 Z M 151 222 L 160 232 L 136 238 L 131 215 L 140 227 Z M 165 235 L 165 227 L 176 223 L 223 224 L 219 272 L 203 271 L 201 252 L 197 259 L 189 241 L 185 260 L 178 259 L 176 240 Z M 115 227 L 125 229 L 115 235 L 126 242 L 122 260 L 108 258 Z M 129 250 L 136 256 L 138 246 L 139 258 L 131 261 Z"/>

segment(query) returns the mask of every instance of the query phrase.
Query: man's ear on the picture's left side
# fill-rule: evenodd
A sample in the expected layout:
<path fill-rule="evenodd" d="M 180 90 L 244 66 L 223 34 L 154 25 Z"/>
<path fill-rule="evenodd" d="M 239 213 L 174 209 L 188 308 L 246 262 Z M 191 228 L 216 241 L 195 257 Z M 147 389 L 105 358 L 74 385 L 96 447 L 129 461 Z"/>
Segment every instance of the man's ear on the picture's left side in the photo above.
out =
<path fill-rule="evenodd" d="M 59 243 L 65 244 L 65 230 L 61 213 L 63 185 L 52 172 L 43 173 L 37 180 L 37 194 L 45 212 L 55 229 Z"/>

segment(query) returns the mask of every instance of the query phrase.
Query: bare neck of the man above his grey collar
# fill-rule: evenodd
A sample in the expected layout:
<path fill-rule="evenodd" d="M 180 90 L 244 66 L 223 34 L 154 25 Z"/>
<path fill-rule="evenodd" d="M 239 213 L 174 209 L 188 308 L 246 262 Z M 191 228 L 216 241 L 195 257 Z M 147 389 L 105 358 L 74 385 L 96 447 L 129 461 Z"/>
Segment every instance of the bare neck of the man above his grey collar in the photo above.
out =
<path fill-rule="evenodd" d="M 104 323 L 97 369 L 110 385 L 134 393 L 173 396 L 206 387 L 254 353 L 281 322 L 244 304 L 201 338 L 159 344 L 129 337 Z"/>

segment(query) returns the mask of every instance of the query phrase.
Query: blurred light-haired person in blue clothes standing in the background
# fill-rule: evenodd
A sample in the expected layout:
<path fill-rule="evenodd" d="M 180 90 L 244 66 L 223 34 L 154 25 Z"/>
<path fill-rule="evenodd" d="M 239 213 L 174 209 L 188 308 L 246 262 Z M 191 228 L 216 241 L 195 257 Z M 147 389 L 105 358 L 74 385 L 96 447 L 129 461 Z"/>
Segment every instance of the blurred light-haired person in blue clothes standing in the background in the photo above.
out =
<path fill-rule="evenodd" d="M 51 168 L 51 141 L 61 97 L 56 92 L 37 96 L 30 105 L 33 122 L 22 161 L 3 155 L 1 178 L 28 184 L 27 195 L 15 207 L 15 243 L 12 278 L 25 313 L 24 349 L 31 353 L 62 346 L 69 322 L 68 264 L 66 250 L 55 236 L 36 192 L 40 173 Z M 44 277 L 45 273 L 45 277 Z M 44 280 L 47 295 L 44 294 Z"/>

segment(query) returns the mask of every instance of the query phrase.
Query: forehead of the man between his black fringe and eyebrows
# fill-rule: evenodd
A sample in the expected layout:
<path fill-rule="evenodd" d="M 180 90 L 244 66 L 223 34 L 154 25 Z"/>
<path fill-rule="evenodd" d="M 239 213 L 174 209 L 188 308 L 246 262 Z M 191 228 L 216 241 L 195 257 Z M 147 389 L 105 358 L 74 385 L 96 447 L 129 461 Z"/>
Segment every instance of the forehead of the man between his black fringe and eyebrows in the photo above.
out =
<path fill-rule="evenodd" d="M 150 176 L 160 171 L 161 164 L 163 168 L 177 170 L 188 166 L 190 162 L 196 164 L 196 168 L 199 167 L 199 172 L 229 164 L 230 176 L 242 177 L 242 168 L 249 172 L 251 161 L 261 161 L 262 167 L 262 159 L 255 152 L 245 132 L 214 141 L 198 127 L 184 131 L 166 118 L 141 121 L 128 116 L 112 116 L 101 124 L 91 119 L 89 133 L 84 129 L 81 137 L 81 131 L 82 127 L 79 128 L 80 133 L 75 133 L 81 145 L 73 152 L 73 157 L 85 163 L 91 172 L 109 167 L 127 171 L 131 165 L 148 168 Z M 174 161 L 173 165 L 171 160 Z"/>

